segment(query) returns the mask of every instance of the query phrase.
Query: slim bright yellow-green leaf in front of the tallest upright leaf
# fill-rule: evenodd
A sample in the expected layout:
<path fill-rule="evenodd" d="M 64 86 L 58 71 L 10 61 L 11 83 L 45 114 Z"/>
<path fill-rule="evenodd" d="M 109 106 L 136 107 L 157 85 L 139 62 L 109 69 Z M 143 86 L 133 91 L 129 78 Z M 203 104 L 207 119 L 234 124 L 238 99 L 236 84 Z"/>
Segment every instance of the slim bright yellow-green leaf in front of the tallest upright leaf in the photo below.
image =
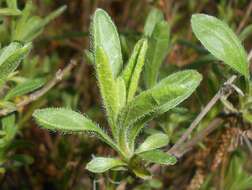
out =
<path fill-rule="evenodd" d="M 116 136 L 116 128 L 114 121 L 117 117 L 119 108 L 119 98 L 117 92 L 117 85 L 112 76 L 112 70 L 109 66 L 108 57 L 102 48 L 97 48 L 95 54 L 96 73 L 98 77 L 100 92 L 103 98 L 109 123 L 111 125 L 112 133 Z"/>

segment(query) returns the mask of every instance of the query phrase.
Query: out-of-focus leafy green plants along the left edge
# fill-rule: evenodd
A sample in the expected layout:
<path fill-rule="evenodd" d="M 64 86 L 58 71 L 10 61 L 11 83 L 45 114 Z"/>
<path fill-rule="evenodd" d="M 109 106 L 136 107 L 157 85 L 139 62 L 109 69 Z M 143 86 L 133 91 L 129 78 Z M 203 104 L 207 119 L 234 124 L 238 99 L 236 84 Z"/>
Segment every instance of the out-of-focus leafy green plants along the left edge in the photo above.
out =
<path fill-rule="evenodd" d="M 44 86 L 46 75 L 42 75 L 39 67 L 31 68 L 30 60 L 34 59 L 29 56 L 32 42 L 52 19 L 66 9 L 63 6 L 41 18 L 34 15 L 35 7 L 31 1 L 26 2 L 23 10 L 18 8 L 16 0 L 7 0 L 6 5 L 6 8 L 0 9 L 0 173 L 24 163 L 32 163 L 30 156 L 13 153 L 17 146 L 22 146 L 22 142 L 15 141 L 21 119 L 13 112 L 22 108 L 19 106 L 22 105 L 20 99 L 26 101 L 28 95 Z M 27 67 L 33 75 L 28 74 Z M 15 164 L 10 167 L 10 162 Z"/>

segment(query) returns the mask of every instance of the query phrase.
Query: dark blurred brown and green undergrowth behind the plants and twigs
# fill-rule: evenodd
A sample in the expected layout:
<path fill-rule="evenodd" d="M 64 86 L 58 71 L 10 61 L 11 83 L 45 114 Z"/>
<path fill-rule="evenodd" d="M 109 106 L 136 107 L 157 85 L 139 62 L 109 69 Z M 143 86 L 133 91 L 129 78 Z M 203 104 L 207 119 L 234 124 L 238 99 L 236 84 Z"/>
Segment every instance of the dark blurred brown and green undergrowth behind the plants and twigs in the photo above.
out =
<path fill-rule="evenodd" d="M 22 10 L 26 3 L 25 0 L 19 0 L 19 9 Z M 91 47 L 89 26 L 92 14 L 98 7 L 110 14 L 118 27 L 124 59 L 127 60 L 134 44 L 143 35 L 149 12 L 157 8 L 163 12 L 170 25 L 169 49 L 160 69 L 160 77 L 186 68 L 197 69 L 204 75 L 200 88 L 181 109 L 167 113 L 159 121 L 150 123 L 148 129 L 143 132 L 149 134 L 152 130 L 162 128 L 172 135 L 171 142 L 176 141 L 200 109 L 217 92 L 229 72 L 222 65 L 215 64 L 194 37 L 190 26 L 191 15 L 207 13 L 224 20 L 240 34 L 240 39 L 249 51 L 252 48 L 252 1 L 33 0 L 32 3 L 32 14 L 40 17 L 49 15 L 63 5 L 67 5 L 67 9 L 47 24 L 43 32 L 33 40 L 33 50 L 20 71 L 23 76 L 43 76 L 49 81 L 57 70 L 65 68 L 70 60 L 75 60 L 78 64 L 46 95 L 18 110 L 17 132 L 8 151 L 4 153 L 4 162 L 0 165 L 0 189 L 105 190 L 117 187 L 118 190 L 180 190 L 199 189 L 197 184 L 206 190 L 252 189 L 252 167 L 249 159 L 251 155 L 249 156 L 248 149 L 241 146 L 229 153 L 226 152 L 226 146 L 221 146 L 230 140 L 230 134 L 233 134 L 232 130 L 227 129 L 236 125 L 234 118 L 227 118 L 217 132 L 206 138 L 204 144 L 186 154 L 178 164 L 162 168 L 153 180 L 142 181 L 130 174 L 118 177 L 114 173 L 94 175 L 88 172 L 85 165 L 92 155 L 115 155 L 115 152 L 97 139 L 86 135 L 66 135 L 41 129 L 31 117 L 37 108 L 64 106 L 85 113 L 106 128 L 92 60 L 85 51 Z M 3 2 L 2 6 L 4 5 Z M 5 27 L 10 24 L 10 18 L 4 18 L 4 22 L 5 26 L 0 28 L 2 45 L 8 43 L 8 30 Z M 232 97 L 232 102 L 238 104 L 237 99 L 236 96 Z M 21 100 L 17 97 L 13 101 L 17 103 Z M 222 105 L 217 104 L 197 130 L 206 127 L 220 110 Z M 227 159 L 226 155 L 229 155 Z M 217 162 L 217 169 L 211 169 L 215 167 L 214 161 Z M 241 179 L 246 179 L 246 182 Z M 246 186 L 242 187 L 244 183 Z"/>

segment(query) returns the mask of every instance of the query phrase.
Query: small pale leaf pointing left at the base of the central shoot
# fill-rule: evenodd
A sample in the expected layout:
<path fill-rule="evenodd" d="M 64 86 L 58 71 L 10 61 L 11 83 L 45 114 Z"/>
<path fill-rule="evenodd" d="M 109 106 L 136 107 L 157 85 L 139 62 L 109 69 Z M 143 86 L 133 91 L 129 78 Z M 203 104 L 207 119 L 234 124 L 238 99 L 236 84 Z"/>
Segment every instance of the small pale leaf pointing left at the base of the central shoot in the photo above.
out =
<path fill-rule="evenodd" d="M 126 166 L 124 162 L 115 158 L 95 157 L 86 166 L 93 173 L 103 173 L 116 167 Z"/>

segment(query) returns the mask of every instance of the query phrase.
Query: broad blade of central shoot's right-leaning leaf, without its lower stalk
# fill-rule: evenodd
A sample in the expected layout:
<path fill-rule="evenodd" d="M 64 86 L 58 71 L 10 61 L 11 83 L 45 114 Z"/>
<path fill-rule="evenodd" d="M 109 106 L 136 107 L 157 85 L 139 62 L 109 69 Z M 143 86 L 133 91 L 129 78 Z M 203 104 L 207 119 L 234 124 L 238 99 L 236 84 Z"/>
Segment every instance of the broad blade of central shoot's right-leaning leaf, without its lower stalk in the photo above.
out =
<path fill-rule="evenodd" d="M 187 99 L 198 87 L 202 77 L 194 70 L 174 73 L 153 88 L 135 97 L 121 112 L 123 126 L 129 126 L 145 116 L 162 114 Z"/>

